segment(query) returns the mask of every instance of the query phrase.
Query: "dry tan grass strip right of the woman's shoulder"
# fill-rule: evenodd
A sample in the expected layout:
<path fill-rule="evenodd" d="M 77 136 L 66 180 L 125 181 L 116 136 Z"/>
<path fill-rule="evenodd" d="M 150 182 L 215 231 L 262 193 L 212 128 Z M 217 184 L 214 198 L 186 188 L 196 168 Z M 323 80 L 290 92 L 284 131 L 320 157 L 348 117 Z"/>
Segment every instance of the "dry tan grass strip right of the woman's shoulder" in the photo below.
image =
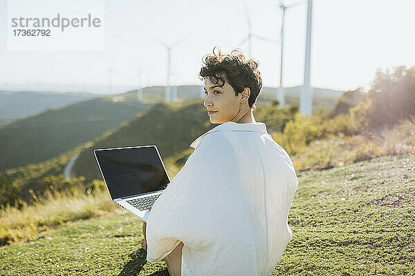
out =
<path fill-rule="evenodd" d="M 297 171 L 342 167 L 387 155 L 415 155 L 415 122 L 405 120 L 394 128 L 360 135 L 330 135 L 298 152 L 291 155 Z"/>

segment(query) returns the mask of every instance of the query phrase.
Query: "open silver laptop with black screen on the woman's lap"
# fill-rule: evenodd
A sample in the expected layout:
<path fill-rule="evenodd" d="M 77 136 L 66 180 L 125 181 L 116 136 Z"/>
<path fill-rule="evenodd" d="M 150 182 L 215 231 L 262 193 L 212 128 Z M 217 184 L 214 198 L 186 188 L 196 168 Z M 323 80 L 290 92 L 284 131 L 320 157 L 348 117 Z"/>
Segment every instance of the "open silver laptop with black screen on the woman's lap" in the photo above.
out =
<path fill-rule="evenodd" d="M 147 222 L 149 208 L 170 183 L 156 146 L 93 151 L 111 199 Z"/>

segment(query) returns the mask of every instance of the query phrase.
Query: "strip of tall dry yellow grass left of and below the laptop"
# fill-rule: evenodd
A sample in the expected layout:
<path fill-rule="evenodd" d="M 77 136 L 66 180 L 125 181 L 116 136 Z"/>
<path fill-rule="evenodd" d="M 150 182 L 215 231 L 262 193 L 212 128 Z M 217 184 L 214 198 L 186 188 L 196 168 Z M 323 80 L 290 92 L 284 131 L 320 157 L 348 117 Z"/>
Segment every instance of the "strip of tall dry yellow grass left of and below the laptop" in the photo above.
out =
<path fill-rule="evenodd" d="M 46 193 L 32 205 L 0 210 L 0 246 L 26 241 L 50 228 L 69 221 L 90 219 L 111 213 L 116 208 L 107 191 L 96 195 Z"/>

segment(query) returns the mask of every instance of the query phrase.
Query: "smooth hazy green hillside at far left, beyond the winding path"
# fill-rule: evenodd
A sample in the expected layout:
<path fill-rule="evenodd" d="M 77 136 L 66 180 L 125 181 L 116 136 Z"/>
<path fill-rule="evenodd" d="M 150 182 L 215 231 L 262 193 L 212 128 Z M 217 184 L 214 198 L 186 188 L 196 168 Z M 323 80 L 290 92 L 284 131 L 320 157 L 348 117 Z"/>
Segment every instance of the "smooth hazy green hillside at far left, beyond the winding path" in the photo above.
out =
<path fill-rule="evenodd" d="M 0 128 L 0 170 L 57 157 L 150 107 L 91 99 L 7 124 Z"/>

